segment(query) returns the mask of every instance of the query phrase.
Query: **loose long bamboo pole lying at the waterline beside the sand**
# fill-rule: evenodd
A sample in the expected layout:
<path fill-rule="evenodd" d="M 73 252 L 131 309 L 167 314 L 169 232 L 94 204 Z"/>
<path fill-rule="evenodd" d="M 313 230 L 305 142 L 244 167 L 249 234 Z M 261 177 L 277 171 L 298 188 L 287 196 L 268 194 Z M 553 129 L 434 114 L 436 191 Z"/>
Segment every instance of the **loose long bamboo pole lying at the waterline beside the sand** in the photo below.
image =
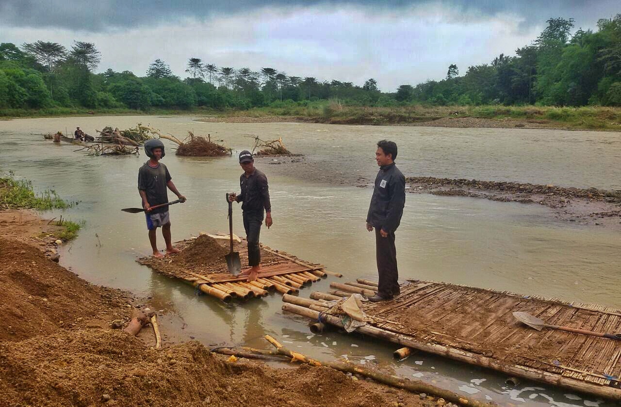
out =
<path fill-rule="evenodd" d="M 291 362 L 299 360 L 299 362 L 306 363 L 312 366 L 326 366 L 326 367 L 331 367 L 332 369 L 335 369 L 335 370 L 340 370 L 341 372 L 354 373 L 354 374 L 357 373 L 365 377 L 370 377 L 379 383 L 384 383 L 392 387 L 402 388 L 404 390 L 411 391 L 412 393 L 432 394 L 436 397 L 441 397 L 444 400 L 450 401 L 451 403 L 458 403 L 463 406 L 491 407 L 491 405 L 489 405 L 488 403 L 483 403 L 482 401 L 473 400 L 466 396 L 457 395 L 456 393 L 453 393 L 453 391 L 435 387 L 434 385 L 422 382 L 420 380 L 409 380 L 405 378 L 396 378 L 391 375 L 387 375 L 386 373 L 381 373 L 376 370 L 365 369 L 363 367 L 360 367 L 358 365 L 354 365 L 351 363 L 320 362 L 319 360 L 311 359 L 299 352 L 290 351 L 289 349 L 281 345 L 278 341 L 276 341 L 276 339 L 272 338 L 270 335 L 266 335 L 265 339 L 267 339 L 268 342 L 270 342 L 274 347 L 276 347 L 276 351 L 278 351 L 279 354 L 291 357 Z"/>

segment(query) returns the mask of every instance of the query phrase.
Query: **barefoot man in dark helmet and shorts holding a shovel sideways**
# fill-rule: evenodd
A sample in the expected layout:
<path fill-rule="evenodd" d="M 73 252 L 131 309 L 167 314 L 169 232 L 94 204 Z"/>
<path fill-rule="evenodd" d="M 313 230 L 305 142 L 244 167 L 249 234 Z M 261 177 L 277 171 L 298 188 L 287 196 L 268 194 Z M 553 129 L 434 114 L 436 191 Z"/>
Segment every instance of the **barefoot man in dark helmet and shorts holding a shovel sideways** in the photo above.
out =
<path fill-rule="evenodd" d="M 157 249 L 155 233 L 157 228 L 161 227 L 161 234 L 166 242 L 166 254 L 179 253 L 179 249 L 173 248 L 171 243 L 168 207 L 155 209 L 151 209 L 151 207 L 168 202 L 167 187 L 181 199 L 181 202 L 186 202 L 186 197 L 181 195 L 175 184 L 173 184 L 168 168 L 160 163 L 160 159 L 165 155 L 164 143 L 156 139 L 147 140 L 145 143 L 145 154 L 149 157 L 149 161 L 143 164 L 138 171 L 138 192 L 140 192 L 140 197 L 142 198 L 142 207 L 145 208 L 153 257 L 164 257 Z"/>

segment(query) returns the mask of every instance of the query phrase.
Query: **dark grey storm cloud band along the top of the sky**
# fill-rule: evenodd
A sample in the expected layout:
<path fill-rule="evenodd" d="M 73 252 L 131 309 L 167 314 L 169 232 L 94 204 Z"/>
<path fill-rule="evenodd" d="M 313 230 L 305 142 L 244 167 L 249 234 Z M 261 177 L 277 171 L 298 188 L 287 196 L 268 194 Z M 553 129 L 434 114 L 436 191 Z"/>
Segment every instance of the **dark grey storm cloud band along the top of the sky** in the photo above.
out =
<path fill-rule="evenodd" d="M 279 11 L 297 8 L 338 9 L 356 6 L 366 12 L 399 12 L 412 6 L 441 4 L 456 18 L 486 18 L 514 14 L 525 27 L 541 24 L 549 17 L 574 17 L 579 24 L 594 25 L 601 17 L 619 12 L 617 0 L 0 0 L 0 24 L 12 27 L 61 27 L 88 32 L 135 28 L 190 17 L 209 19 L 229 14 L 272 8 Z"/>

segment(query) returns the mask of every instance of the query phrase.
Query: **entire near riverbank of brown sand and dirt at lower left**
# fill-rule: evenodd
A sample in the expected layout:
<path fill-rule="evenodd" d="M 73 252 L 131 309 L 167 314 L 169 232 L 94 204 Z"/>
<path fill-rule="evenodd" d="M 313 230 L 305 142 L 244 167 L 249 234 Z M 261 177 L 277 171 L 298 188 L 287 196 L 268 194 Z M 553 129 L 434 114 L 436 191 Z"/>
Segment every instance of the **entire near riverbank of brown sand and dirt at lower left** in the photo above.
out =
<path fill-rule="evenodd" d="M 0 400 L 7 406 L 421 406 L 436 400 L 324 367 L 274 369 L 196 341 L 153 349 L 111 322 L 148 306 L 52 261 L 53 226 L 0 212 Z M 50 235 L 48 235 L 48 233 Z M 43 238 L 42 236 L 45 235 Z M 166 314 L 160 315 L 166 320 Z"/>

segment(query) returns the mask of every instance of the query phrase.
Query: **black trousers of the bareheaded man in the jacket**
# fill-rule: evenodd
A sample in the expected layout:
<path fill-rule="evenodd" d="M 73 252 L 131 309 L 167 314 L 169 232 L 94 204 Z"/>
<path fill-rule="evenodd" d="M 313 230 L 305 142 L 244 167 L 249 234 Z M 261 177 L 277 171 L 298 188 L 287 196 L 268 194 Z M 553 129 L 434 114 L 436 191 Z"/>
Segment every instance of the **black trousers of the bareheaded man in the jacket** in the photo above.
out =
<path fill-rule="evenodd" d="M 397 249 L 394 246 L 394 232 L 386 238 L 379 234 L 381 228 L 375 228 L 375 256 L 378 262 L 378 295 L 390 298 L 399 293 L 399 272 L 397 271 Z"/>

